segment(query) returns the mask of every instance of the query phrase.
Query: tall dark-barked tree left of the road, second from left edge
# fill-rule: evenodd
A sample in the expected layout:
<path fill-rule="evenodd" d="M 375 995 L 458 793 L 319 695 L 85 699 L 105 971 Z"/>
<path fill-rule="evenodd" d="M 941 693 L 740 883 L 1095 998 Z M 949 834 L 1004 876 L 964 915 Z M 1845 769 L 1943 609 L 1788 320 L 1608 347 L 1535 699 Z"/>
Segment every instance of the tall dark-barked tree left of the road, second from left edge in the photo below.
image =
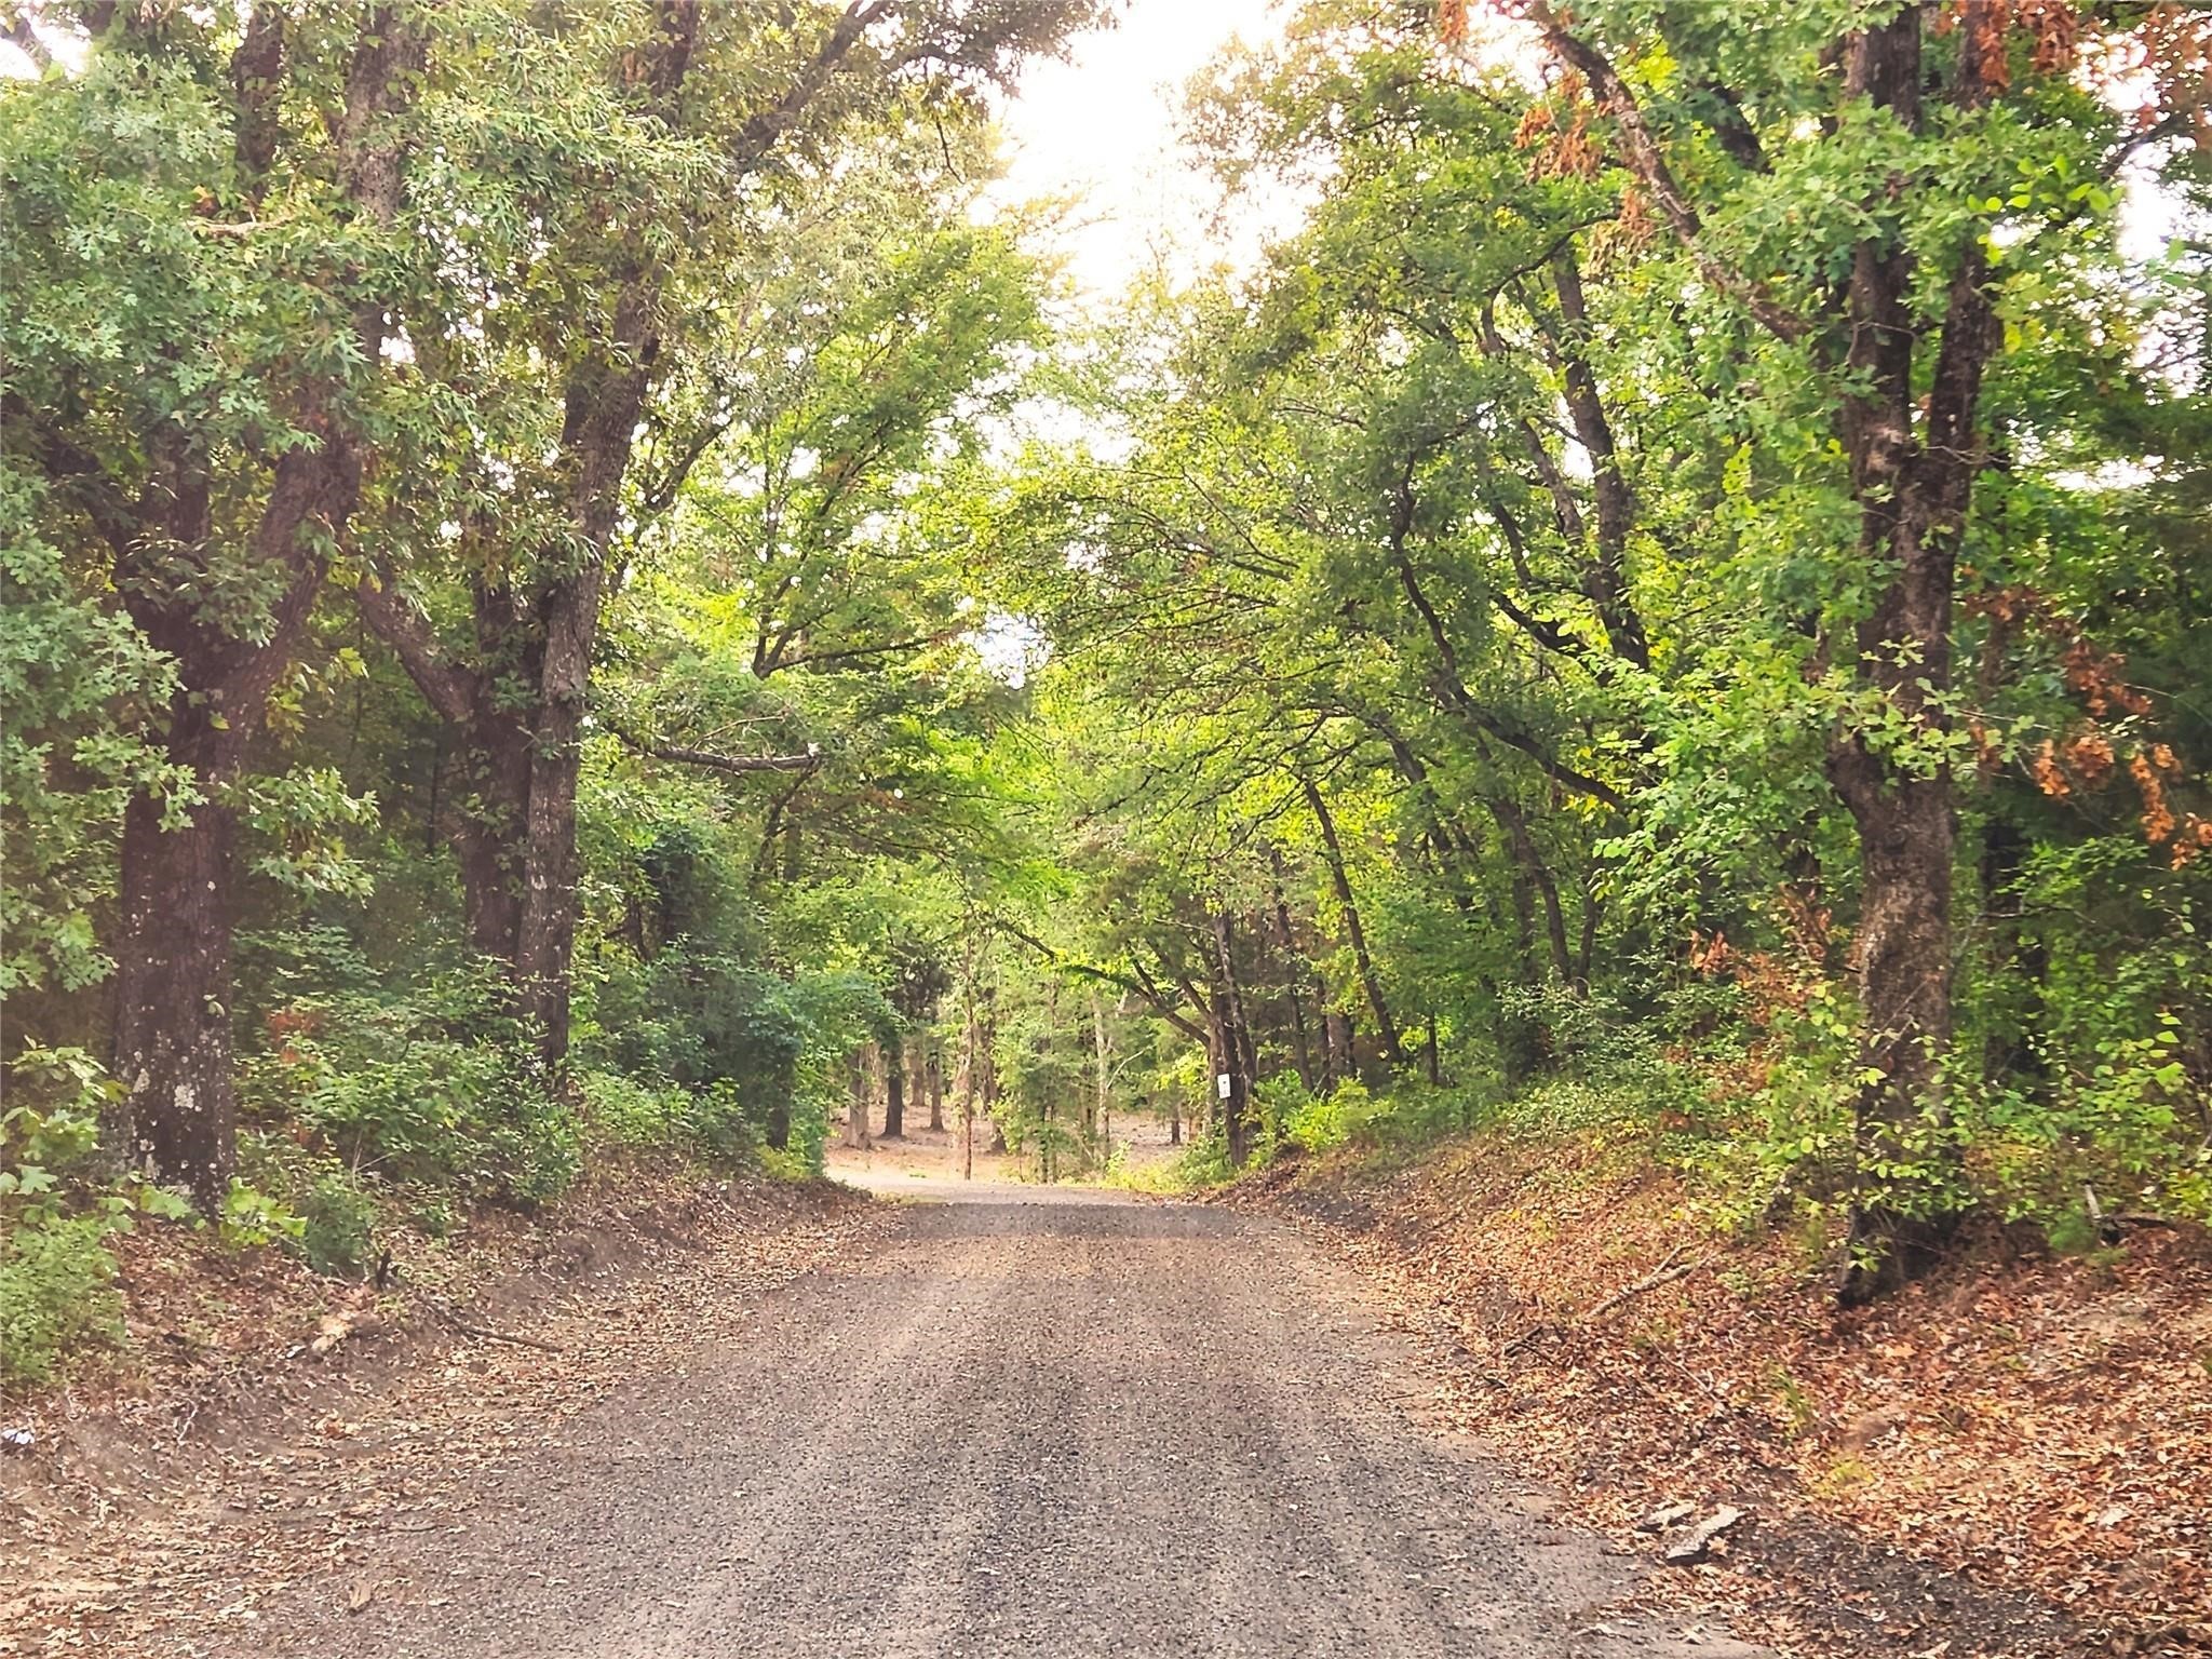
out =
<path fill-rule="evenodd" d="M 500 422 L 458 434 L 469 447 L 451 460 L 465 484 L 449 522 L 462 542 L 469 641 L 440 639 L 383 577 L 356 595 L 458 734 L 471 794 L 453 841 L 471 940 L 509 964 L 549 1066 L 568 1046 L 575 799 L 602 604 L 626 580 L 628 538 L 672 504 L 737 418 L 734 389 L 670 396 L 728 325 L 712 303 L 721 270 L 792 190 L 836 188 L 818 157 L 841 137 L 1004 84 L 1091 11 L 1086 0 L 856 0 L 805 7 L 785 27 L 666 0 L 622 11 L 613 29 L 595 20 L 562 35 L 562 51 L 606 64 L 641 153 L 584 197 L 555 177 L 515 204 L 551 250 L 487 270 L 498 312 L 484 307 L 465 349 L 453 343 L 456 378 L 515 396 Z M 611 188 L 646 217 L 611 221 Z M 546 281 L 584 305 L 533 303 Z M 557 396 L 533 400 L 549 383 Z M 633 476 L 641 427 L 653 434 L 648 478 Z"/>

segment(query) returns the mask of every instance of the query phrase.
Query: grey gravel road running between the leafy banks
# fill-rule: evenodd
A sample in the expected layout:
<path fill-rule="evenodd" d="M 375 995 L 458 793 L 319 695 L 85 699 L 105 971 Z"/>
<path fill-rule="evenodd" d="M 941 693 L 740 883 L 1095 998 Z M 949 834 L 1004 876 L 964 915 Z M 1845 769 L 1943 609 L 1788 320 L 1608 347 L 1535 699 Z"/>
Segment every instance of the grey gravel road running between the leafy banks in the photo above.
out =
<path fill-rule="evenodd" d="M 1217 1208 L 905 1181 L 898 1225 L 230 1652 L 1752 1655 L 1425 1429 L 1358 1292 Z M 349 1608 L 347 1586 L 356 1588 Z"/>

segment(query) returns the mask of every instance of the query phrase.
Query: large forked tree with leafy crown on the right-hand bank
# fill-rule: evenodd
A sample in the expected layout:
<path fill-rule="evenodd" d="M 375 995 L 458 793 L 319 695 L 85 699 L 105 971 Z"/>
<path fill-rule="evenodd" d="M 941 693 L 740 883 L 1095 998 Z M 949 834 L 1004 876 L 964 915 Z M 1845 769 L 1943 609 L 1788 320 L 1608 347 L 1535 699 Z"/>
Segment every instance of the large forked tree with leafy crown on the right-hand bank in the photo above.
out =
<path fill-rule="evenodd" d="M 1818 389 L 1783 431 L 1832 440 L 1807 471 L 1856 520 L 1803 622 L 1807 677 L 1834 695 L 1827 776 L 1858 832 L 1865 1197 L 1843 1294 L 1863 1301 L 1951 1206 L 1924 1170 L 1953 1009 L 1953 613 L 1975 482 L 1997 465 L 1984 383 L 2004 316 L 2035 303 L 2066 230 L 2110 210 L 2139 142 L 2068 80 L 2070 29 L 2037 33 L 2000 0 L 1752 35 L 1542 0 L 1528 15 L 1745 369 Z"/>

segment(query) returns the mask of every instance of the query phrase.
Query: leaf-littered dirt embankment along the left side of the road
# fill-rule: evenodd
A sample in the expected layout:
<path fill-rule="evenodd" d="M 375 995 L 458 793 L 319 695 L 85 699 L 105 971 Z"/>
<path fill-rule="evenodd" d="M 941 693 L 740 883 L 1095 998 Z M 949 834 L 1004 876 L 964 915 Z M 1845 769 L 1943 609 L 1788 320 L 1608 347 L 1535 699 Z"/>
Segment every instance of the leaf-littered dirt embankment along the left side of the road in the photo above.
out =
<path fill-rule="evenodd" d="M 555 1433 L 611 1374 L 681 1363 L 878 1221 L 832 1183 L 630 1166 L 540 1217 L 398 1234 L 383 1287 L 128 1234 L 128 1340 L 0 1407 L 0 1655 L 252 1628 L 347 1535 L 427 1526 L 409 1515 L 458 1469 Z"/>

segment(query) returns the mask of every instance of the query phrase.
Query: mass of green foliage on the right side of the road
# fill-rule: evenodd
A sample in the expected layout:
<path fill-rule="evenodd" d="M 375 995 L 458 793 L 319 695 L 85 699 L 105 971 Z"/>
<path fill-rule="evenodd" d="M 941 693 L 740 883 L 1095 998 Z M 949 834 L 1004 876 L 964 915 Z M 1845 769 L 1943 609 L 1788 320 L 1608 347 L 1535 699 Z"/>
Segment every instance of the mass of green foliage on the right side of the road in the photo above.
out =
<path fill-rule="evenodd" d="M 1327 190 L 1261 272 L 1130 316 L 1172 372 L 1091 394 L 1113 458 L 1033 458 L 1004 571 L 1055 644 L 1048 938 L 1152 1040 L 1208 1026 L 1206 1071 L 1245 1020 L 1263 1152 L 1480 1121 L 1628 1146 L 1739 1219 L 2064 1232 L 2084 1186 L 2203 1214 L 2212 566 L 2177 458 L 2208 268 L 2124 254 L 2124 122 L 2042 49 L 1951 86 L 1907 15 L 1927 102 L 1885 111 L 1807 69 L 1829 11 L 1562 24 L 1624 71 L 1694 241 L 1610 93 L 1438 75 L 1422 13 L 1307 7 L 1197 95 L 1230 188 Z M 2201 210 L 2201 164 L 2159 170 Z M 1960 294 L 1995 305 L 1933 644 L 1874 628 L 1902 624 L 1836 301 L 1867 248 L 1905 252 L 1913 442 Z M 2192 367 L 2146 372 L 2150 338 Z M 1079 555 L 1040 562 L 1044 526 Z M 1900 807 L 1847 810 L 1847 752 L 1942 779 L 1962 825 L 1944 942 L 1882 967 L 1955 975 L 1905 1091 L 1851 989 Z M 1294 1082 L 1323 1009 L 1360 1026 L 1356 1117 Z"/>

